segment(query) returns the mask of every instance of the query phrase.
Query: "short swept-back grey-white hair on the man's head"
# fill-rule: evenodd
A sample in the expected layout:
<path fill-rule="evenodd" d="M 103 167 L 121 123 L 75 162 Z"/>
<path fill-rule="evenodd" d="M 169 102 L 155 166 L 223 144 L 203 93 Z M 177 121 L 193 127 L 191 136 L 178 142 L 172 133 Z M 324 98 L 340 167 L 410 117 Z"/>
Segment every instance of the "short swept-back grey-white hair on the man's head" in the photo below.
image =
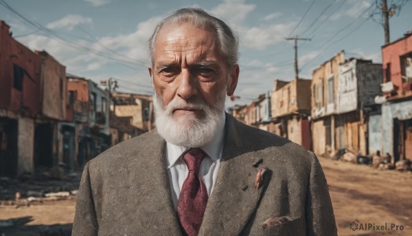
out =
<path fill-rule="evenodd" d="M 182 8 L 176 10 L 169 17 L 166 17 L 160 21 L 149 39 L 149 52 L 154 65 L 155 54 L 155 42 L 157 34 L 165 24 L 181 24 L 192 23 L 196 28 L 202 30 L 211 30 L 216 34 L 217 43 L 220 46 L 220 53 L 225 57 L 227 66 L 235 65 L 238 63 L 239 57 L 239 41 L 238 35 L 234 32 L 229 25 L 222 20 L 211 16 L 205 10 L 200 8 Z"/>

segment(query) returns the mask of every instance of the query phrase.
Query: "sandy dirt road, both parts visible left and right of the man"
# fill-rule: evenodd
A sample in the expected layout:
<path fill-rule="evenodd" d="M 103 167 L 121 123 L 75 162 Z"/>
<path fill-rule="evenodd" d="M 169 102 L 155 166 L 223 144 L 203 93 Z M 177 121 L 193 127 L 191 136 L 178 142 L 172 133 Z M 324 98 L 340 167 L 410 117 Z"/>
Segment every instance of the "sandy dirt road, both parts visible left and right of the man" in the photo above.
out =
<path fill-rule="evenodd" d="M 379 171 L 371 167 L 319 158 L 325 172 L 339 235 L 412 235 L 412 173 Z M 75 200 L 34 206 L 0 206 L 0 219 L 32 216 L 26 230 L 58 224 L 71 226 Z M 351 230 L 356 222 L 358 230 Z M 396 230 L 359 230 L 361 224 L 398 226 Z M 400 230 L 403 226 L 403 230 Z M 0 228 L 1 231 L 1 228 Z M 5 234 L 9 235 L 9 234 Z"/>

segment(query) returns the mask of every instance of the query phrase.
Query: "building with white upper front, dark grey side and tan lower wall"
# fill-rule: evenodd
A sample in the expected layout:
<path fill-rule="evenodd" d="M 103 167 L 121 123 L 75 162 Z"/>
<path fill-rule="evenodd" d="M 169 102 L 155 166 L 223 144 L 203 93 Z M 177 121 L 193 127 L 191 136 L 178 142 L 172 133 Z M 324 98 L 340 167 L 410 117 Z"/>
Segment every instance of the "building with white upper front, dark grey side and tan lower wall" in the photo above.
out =
<path fill-rule="evenodd" d="M 339 66 L 336 93 L 336 149 L 368 154 L 369 114 L 377 114 L 374 98 L 380 94 L 382 65 L 350 58 Z"/>

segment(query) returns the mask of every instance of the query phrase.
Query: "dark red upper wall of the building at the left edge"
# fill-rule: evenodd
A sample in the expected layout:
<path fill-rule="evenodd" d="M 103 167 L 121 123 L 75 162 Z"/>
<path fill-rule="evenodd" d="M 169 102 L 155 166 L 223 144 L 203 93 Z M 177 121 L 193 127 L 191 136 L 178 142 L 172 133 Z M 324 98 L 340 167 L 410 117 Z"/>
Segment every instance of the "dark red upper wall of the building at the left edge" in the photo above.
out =
<path fill-rule="evenodd" d="M 15 41 L 9 28 L 0 21 L 0 108 L 35 115 L 40 105 L 40 58 Z M 14 64 L 25 71 L 21 91 L 14 88 Z"/>

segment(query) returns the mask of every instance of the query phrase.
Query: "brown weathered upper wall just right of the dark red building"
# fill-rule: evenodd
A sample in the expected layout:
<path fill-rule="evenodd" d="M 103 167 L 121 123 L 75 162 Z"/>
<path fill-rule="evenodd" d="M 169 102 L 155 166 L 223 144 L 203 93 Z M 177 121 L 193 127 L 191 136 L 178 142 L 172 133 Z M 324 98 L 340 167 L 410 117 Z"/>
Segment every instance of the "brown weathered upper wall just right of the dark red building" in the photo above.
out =
<path fill-rule="evenodd" d="M 66 67 L 47 52 L 36 52 L 41 57 L 41 109 L 43 115 L 65 120 L 67 100 Z"/>

